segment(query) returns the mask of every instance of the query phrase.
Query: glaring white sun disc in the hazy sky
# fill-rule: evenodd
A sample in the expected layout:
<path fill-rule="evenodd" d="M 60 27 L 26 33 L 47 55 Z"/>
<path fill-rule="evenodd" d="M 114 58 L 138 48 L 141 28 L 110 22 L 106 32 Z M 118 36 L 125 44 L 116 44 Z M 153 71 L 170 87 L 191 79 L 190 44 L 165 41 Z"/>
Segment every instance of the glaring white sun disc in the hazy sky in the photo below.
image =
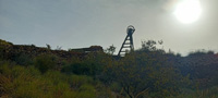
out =
<path fill-rule="evenodd" d="M 199 0 L 182 0 L 178 3 L 173 14 L 180 22 L 189 24 L 197 21 L 201 13 Z"/>

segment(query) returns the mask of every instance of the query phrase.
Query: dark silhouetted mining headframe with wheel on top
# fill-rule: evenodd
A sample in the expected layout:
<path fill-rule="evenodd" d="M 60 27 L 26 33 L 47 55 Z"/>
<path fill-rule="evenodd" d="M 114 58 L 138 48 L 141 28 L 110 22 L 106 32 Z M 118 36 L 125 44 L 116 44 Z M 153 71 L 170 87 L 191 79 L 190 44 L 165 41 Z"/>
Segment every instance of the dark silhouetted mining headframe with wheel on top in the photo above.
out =
<path fill-rule="evenodd" d="M 126 29 L 128 35 L 120 48 L 120 51 L 118 53 L 119 57 L 124 56 L 128 51 L 134 50 L 134 46 L 133 46 L 134 32 L 135 32 L 135 28 L 132 25 L 128 26 L 128 29 Z"/>

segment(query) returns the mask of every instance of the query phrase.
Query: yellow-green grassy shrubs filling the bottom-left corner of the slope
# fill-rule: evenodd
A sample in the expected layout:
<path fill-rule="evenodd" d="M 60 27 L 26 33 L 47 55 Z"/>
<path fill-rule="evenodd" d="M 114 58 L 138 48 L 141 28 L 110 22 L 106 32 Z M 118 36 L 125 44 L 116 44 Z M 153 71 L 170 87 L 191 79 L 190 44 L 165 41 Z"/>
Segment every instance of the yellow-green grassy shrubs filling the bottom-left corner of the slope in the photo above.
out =
<path fill-rule="evenodd" d="M 0 97 L 78 98 L 77 96 L 81 96 L 80 93 L 82 91 L 71 88 L 69 83 L 70 77 L 71 76 L 57 71 L 48 71 L 45 74 L 40 74 L 40 72 L 33 66 L 24 68 L 11 63 L 1 63 Z M 80 88 L 82 86 L 80 86 Z M 93 91 L 88 90 L 88 87 L 82 88 L 84 88 L 88 96 L 93 94 Z M 90 89 L 93 88 L 90 87 Z"/>

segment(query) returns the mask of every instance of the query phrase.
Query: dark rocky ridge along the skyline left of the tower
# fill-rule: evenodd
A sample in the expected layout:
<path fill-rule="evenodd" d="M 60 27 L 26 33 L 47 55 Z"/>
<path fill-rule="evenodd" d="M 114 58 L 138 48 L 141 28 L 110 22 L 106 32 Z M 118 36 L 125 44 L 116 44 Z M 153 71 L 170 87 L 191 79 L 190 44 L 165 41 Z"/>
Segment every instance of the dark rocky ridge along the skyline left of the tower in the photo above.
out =
<path fill-rule="evenodd" d="M 81 49 L 71 49 L 70 51 L 65 50 L 51 50 L 48 48 L 36 47 L 34 45 L 13 45 L 5 40 L 0 39 L 0 52 L 1 58 L 13 60 L 16 56 L 21 53 L 28 54 L 31 57 L 36 57 L 40 54 L 56 54 L 60 58 L 68 59 L 72 57 L 83 58 L 90 52 L 102 52 L 102 47 L 92 46 L 89 48 Z"/>

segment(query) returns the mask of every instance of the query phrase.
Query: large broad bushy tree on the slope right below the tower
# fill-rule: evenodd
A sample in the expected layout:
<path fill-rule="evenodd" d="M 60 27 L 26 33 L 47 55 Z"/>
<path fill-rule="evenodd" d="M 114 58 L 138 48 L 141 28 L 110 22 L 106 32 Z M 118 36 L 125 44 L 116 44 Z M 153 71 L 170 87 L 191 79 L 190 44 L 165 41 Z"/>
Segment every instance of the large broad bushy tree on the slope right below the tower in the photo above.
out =
<path fill-rule="evenodd" d="M 164 50 L 156 49 L 153 44 L 156 42 L 148 42 L 141 50 L 113 62 L 109 72 L 130 98 L 162 98 L 179 93 L 181 75 L 168 61 Z"/>

